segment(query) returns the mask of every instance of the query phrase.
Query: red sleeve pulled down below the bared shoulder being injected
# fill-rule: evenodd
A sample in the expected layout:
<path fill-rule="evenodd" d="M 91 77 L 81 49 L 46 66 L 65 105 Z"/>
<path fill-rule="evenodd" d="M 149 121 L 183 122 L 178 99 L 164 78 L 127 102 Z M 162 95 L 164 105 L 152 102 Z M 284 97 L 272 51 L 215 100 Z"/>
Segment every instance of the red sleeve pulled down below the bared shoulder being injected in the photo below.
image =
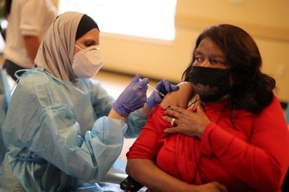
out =
<path fill-rule="evenodd" d="M 147 123 L 142 128 L 140 135 L 129 148 L 127 158 L 147 158 L 156 160 L 160 143 L 158 140 L 164 134 L 164 128 L 169 126 L 167 121 L 162 119 L 164 110 L 158 105 L 153 108 L 147 119 Z"/>

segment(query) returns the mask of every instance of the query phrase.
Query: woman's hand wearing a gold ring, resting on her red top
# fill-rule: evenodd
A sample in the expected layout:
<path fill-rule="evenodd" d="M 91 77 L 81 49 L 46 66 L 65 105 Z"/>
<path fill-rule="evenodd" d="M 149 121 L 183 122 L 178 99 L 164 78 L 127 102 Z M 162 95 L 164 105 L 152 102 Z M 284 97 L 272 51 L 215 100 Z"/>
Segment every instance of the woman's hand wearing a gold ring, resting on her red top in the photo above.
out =
<path fill-rule="evenodd" d="M 170 106 L 164 113 L 165 116 L 163 118 L 175 125 L 173 128 L 165 129 L 164 132 L 178 132 L 189 136 L 197 136 L 200 139 L 202 139 L 206 125 L 211 122 L 201 105 L 197 106 L 197 110 L 194 112 Z"/>

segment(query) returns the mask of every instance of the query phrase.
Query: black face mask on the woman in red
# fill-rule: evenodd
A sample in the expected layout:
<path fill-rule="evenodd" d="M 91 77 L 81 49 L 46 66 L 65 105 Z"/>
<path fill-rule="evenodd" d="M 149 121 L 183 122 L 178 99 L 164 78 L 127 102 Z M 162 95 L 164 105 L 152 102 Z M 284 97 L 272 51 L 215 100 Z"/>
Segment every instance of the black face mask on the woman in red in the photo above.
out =
<path fill-rule="evenodd" d="M 189 73 L 195 93 L 201 101 L 215 102 L 230 92 L 229 69 L 215 69 L 193 66 Z"/>

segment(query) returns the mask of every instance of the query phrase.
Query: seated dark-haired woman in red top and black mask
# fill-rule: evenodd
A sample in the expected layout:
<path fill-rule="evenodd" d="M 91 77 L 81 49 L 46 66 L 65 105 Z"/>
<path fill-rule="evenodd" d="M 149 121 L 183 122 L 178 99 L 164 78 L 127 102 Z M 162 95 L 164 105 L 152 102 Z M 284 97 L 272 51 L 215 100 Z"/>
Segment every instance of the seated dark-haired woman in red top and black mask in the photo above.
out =
<path fill-rule="evenodd" d="M 211 182 L 228 191 L 281 191 L 289 133 L 275 80 L 261 64 L 243 29 L 205 29 L 183 74 L 192 88 L 151 110 L 127 153 L 129 176 L 152 191 L 204 191 Z M 180 99 L 186 105 L 175 106 Z"/>

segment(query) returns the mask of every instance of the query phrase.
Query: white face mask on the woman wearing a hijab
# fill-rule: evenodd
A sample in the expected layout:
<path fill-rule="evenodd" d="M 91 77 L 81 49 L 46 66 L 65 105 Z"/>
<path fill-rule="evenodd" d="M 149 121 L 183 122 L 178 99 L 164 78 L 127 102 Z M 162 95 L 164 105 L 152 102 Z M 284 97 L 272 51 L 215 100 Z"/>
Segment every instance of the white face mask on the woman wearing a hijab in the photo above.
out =
<path fill-rule="evenodd" d="M 96 73 L 103 67 L 103 58 L 101 58 L 98 47 L 90 46 L 85 49 L 75 45 L 81 49 L 74 55 L 72 70 L 78 78 L 94 77 Z"/>

